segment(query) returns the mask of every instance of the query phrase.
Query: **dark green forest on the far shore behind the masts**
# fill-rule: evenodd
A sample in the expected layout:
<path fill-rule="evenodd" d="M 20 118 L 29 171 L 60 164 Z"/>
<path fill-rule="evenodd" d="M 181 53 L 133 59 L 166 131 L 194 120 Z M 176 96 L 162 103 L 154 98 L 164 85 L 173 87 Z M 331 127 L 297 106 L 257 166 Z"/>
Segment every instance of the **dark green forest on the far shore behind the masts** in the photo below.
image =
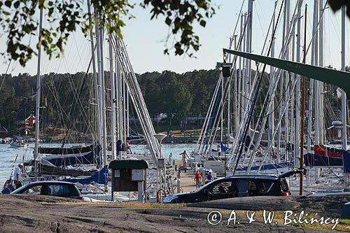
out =
<path fill-rule="evenodd" d="M 137 75 L 137 79 L 151 118 L 160 113 L 166 113 L 167 118 L 161 122 L 162 129 L 174 130 L 174 128 L 183 129 L 183 120 L 189 113 L 204 115 L 207 112 L 220 72 L 218 69 L 186 73 L 148 72 Z M 105 74 L 106 89 L 110 90 L 109 72 Z M 253 113 L 253 122 L 259 116 L 269 87 L 268 73 L 264 73 L 264 76 L 258 104 Z M 31 113 L 35 113 L 36 76 L 28 73 L 20 73 L 18 76 L 2 75 L 1 83 L 0 125 L 8 128 L 12 134 L 16 134 L 19 126 L 15 125 L 15 122 L 25 120 Z M 288 85 L 291 87 L 292 83 Z M 309 86 L 308 81 L 307 86 Z M 41 87 L 41 134 L 53 136 L 59 134 L 60 129 L 93 133 L 91 125 L 95 120 L 96 99 L 93 94 L 91 73 L 48 73 L 42 76 Z M 337 97 L 337 87 L 326 84 L 324 87 L 325 126 L 328 127 L 332 120 L 339 120 L 340 101 Z M 237 93 L 232 92 L 232 98 L 237 98 L 236 95 Z M 276 92 L 275 108 L 281 107 L 282 98 L 281 93 Z M 106 99 L 106 103 L 109 103 L 109 91 L 106 92 Z M 244 109 L 248 111 L 247 106 L 244 106 Z M 277 112 L 275 109 L 274 114 L 277 115 Z M 137 117 L 132 108 L 130 108 L 130 115 Z M 130 126 L 137 127 L 136 124 Z M 196 126 L 189 128 L 192 127 L 198 128 L 201 125 L 197 123 Z"/>

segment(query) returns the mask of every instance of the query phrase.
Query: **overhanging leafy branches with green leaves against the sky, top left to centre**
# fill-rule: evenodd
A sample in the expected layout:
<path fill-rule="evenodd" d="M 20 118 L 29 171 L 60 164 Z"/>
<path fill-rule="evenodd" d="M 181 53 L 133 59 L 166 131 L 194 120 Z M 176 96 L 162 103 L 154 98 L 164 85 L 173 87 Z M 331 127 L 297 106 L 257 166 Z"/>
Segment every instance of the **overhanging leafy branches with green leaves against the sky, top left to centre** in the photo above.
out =
<path fill-rule="evenodd" d="M 64 52 L 64 45 L 69 36 L 80 28 L 85 36 L 88 35 L 95 20 L 99 20 L 99 27 L 106 27 L 110 34 L 117 34 L 122 38 L 121 29 L 125 27 L 123 17 L 134 17 L 130 10 L 134 4 L 128 0 L 91 0 L 94 15 L 86 13 L 85 1 L 76 0 L 0 0 L 0 34 L 8 38 L 6 51 L 1 51 L 9 59 L 18 60 L 22 66 L 36 54 L 31 48 L 30 37 L 36 34 L 38 28 L 38 9 L 48 15 L 39 42 L 36 44 L 51 58 L 59 57 Z M 193 24 L 199 23 L 205 27 L 206 20 L 215 14 L 216 8 L 211 0 L 143 0 L 142 7 L 150 8 L 151 19 L 165 17 L 165 24 L 169 27 L 169 38 L 174 40 L 170 48 L 174 48 L 175 55 L 186 53 L 193 56 L 193 50 L 200 48 L 200 38 L 193 31 Z M 90 24 L 92 20 L 92 24 Z M 44 24 L 45 25 L 45 24 Z M 165 54 L 169 54 L 169 45 Z"/>

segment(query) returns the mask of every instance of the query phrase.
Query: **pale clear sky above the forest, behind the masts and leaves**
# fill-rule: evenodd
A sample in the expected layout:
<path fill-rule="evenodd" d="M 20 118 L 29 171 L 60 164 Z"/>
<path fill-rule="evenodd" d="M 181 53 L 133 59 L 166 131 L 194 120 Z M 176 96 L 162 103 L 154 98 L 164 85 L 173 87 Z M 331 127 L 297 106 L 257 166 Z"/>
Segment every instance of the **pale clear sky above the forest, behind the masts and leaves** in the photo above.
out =
<path fill-rule="evenodd" d="M 140 1 L 132 1 L 139 3 Z M 127 51 L 132 62 L 132 66 L 136 73 L 145 73 L 165 70 L 184 73 L 195 69 L 214 69 L 216 62 L 223 60 L 223 48 L 229 47 L 230 37 L 234 34 L 239 10 L 243 1 L 238 0 L 215 0 L 214 5 L 218 7 L 216 15 L 207 21 L 206 27 L 200 27 L 195 24 L 195 33 L 200 36 L 200 51 L 195 52 L 197 58 L 185 56 L 174 56 L 174 51 L 170 55 L 164 55 L 165 50 L 164 39 L 167 36 L 168 27 L 165 24 L 164 17 L 159 17 L 157 20 L 151 20 L 150 9 L 143 9 L 138 5 L 131 11 L 135 16 L 132 20 L 125 20 L 127 26 L 123 29 L 123 36 Z M 243 12 L 247 10 L 247 2 L 244 2 Z M 274 11 L 274 0 L 255 0 L 253 2 L 253 53 L 260 54 L 265 41 L 269 22 Z M 290 0 L 290 11 L 293 13 L 296 0 Z M 307 16 L 307 44 L 311 39 L 312 29 L 312 13 L 313 0 L 307 0 L 308 16 Z M 278 1 L 277 9 L 279 10 L 281 0 Z M 304 13 L 304 4 L 302 6 Z M 341 55 L 341 18 L 340 13 L 334 14 L 330 8 L 325 10 L 325 43 L 324 56 L 325 66 L 331 65 L 336 69 L 340 68 Z M 302 18 L 302 25 L 304 24 Z M 346 18 L 346 31 L 350 30 L 349 19 Z M 44 24 L 43 27 L 48 27 Z M 276 31 L 276 54 L 281 50 L 282 24 Z M 303 34 L 302 26 L 302 34 Z M 235 31 L 239 34 L 239 30 Z M 346 35 L 349 33 L 346 33 Z M 349 34 L 350 35 L 350 34 Z M 35 41 L 32 38 L 32 41 Z M 267 42 L 269 39 L 267 40 Z M 349 41 L 349 39 L 346 39 Z M 6 38 L 0 38 L 0 50 L 6 48 Z M 302 42 L 303 44 L 303 42 Z M 349 43 L 346 43 L 346 64 L 350 64 Z M 311 51 L 308 52 L 310 57 Z M 105 69 L 108 69 L 108 43 L 105 43 Z M 87 40 L 80 32 L 73 34 L 65 48 L 64 57 L 61 59 L 48 60 L 48 57 L 43 55 L 41 73 L 76 73 L 78 71 L 86 71 L 90 62 L 90 41 Z M 307 62 L 310 58 L 308 57 Z M 8 73 L 18 75 L 18 73 L 36 73 L 37 57 L 31 59 L 25 67 L 20 66 L 18 62 L 11 62 L 0 58 L 0 73 L 5 73 L 9 68 Z M 254 66 L 253 66 L 254 69 Z"/>

